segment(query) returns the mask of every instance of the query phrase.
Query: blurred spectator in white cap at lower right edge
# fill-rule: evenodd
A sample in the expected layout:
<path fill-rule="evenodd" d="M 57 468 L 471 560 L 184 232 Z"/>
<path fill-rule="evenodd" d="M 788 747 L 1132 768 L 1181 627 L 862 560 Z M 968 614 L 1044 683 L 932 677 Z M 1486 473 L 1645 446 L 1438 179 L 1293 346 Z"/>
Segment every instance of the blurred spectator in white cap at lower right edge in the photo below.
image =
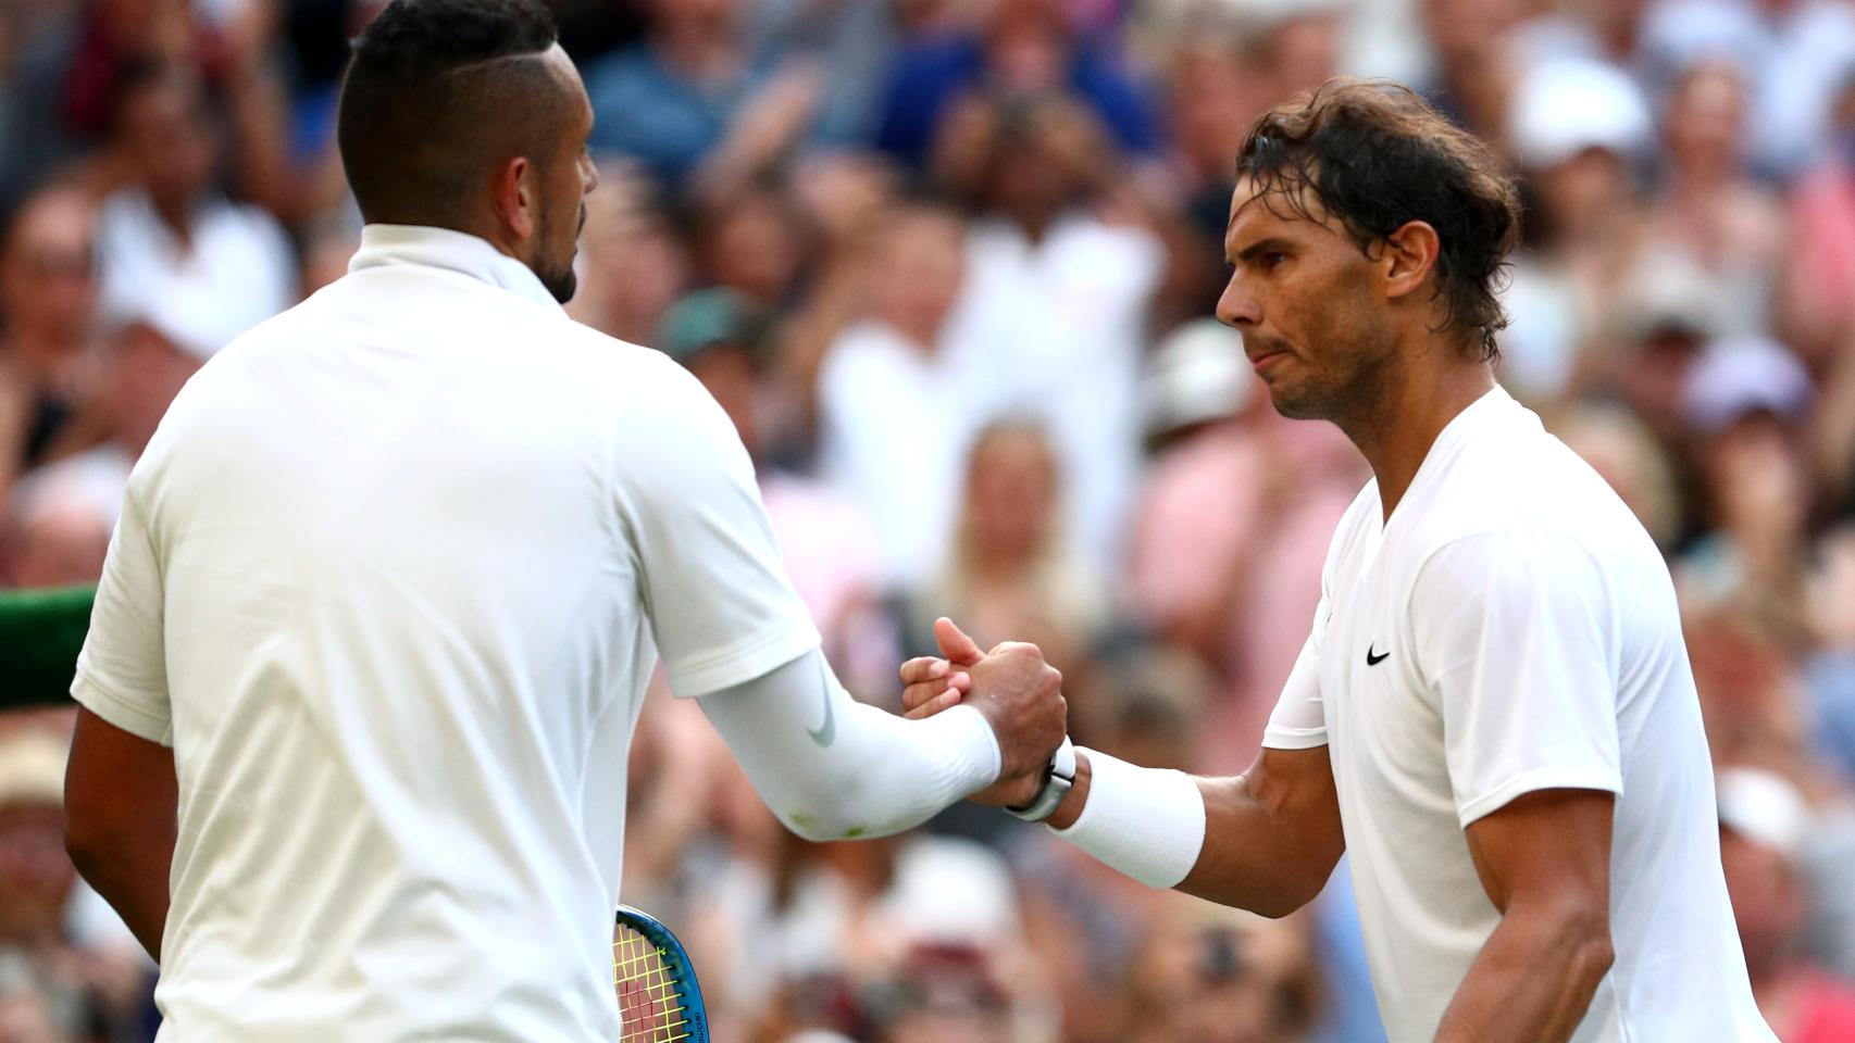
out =
<path fill-rule="evenodd" d="M 1855 1039 L 1855 989 L 1801 956 L 1809 887 L 1799 858 L 1812 830 L 1803 795 L 1751 767 L 1723 769 L 1718 787 L 1720 858 L 1759 1012 L 1783 1043 Z"/>

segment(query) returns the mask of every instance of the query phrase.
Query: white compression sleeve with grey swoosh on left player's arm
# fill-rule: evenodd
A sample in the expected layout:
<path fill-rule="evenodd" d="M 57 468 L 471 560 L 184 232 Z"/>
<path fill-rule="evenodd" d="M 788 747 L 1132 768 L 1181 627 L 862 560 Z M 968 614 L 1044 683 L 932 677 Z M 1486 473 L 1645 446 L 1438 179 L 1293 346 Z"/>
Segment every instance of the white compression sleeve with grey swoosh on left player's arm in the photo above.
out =
<path fill-rule="evenodd" d="M 816 648 L 696 702 L 766 806 L 805 839 L 896 834 L 998 780 L 998 739 L 978 710 L 885 713 L 851 698 Z"/>

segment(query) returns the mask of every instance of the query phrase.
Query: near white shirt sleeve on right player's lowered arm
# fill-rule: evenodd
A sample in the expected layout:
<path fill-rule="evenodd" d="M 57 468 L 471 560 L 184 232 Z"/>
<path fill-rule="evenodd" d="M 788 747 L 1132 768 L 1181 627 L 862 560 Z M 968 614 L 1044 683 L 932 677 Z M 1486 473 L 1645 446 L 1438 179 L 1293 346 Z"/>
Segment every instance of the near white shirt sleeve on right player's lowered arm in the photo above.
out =
<path fill-rule="evenodd" d="M 1538 789 L 1623 793 L 1614 619 L 1582 547 L 1458 539 L 1423 563 L 1410 611 L 1464 826 Z"/>

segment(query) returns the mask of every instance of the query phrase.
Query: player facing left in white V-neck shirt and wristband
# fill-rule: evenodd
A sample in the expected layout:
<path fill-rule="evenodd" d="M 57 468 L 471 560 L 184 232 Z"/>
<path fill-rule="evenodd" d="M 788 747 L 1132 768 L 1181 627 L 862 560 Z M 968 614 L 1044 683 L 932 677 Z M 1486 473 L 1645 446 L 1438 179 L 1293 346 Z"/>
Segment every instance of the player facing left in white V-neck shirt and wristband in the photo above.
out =
<path fill-rule="evenodd" d="M 1078 750 L 1050 824 L 1265 915 L 1350 852 L 1393 1043 L 1772 1043 L 1668 569 L 1493 380 L 1514 187 L 1415 94 L 1360 82 L 1267 113 L 1237 172 L 1219 319 L 1276 409 L 1337 424 L 1375 480 L 1250 771 Z M 907 663 L 909 711 L 957 704 L 948 676 Z"/>

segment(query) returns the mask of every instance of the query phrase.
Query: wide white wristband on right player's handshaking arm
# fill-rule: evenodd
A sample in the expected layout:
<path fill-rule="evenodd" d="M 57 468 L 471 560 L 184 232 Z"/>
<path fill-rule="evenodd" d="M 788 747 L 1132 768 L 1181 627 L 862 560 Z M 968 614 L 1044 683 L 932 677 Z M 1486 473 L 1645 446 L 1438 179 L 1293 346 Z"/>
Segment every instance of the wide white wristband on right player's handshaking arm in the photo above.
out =
<path fill-rule="evenodd" d="M 1204 793 L 1182 771 L 1089 754 L 1089 802 L 1055 836 L 1148 887 L 1178 887 L 1204 850 Z"/>

